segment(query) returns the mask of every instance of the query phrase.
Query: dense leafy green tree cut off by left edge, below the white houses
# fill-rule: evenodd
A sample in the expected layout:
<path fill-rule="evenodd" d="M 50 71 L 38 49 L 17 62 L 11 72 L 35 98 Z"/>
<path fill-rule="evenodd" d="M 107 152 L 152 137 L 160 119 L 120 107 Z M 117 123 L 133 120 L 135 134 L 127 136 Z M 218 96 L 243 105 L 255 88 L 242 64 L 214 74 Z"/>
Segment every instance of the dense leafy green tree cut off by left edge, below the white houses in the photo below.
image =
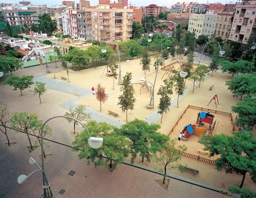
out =
<path fill-rule="evenodd" d="M 4 73 L 10 72 L 12 75 L 12 72 L 22 68 L 22 65 L 22 61 L 17 58 L 0 56 L 0 70 Z"/>

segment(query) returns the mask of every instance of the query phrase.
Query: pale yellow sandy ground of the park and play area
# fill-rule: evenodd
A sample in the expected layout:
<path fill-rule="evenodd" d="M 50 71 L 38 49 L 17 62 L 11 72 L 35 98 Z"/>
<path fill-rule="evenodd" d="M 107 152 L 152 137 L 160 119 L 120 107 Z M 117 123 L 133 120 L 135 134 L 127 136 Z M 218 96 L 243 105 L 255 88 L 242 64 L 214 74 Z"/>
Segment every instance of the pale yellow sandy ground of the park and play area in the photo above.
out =
<path fill-rule="evenodd" d="M 171 59 L 167 59 L 165 61 L 165 65 L 170 64 L 171 62 Z M 147 72 L 146 80 L 152 84 L 154 83 L 156 75 L 155 67 L 153 66 L 153 64 L 154 57 L 151 57 L 150 72 Z M 174 64 L 174 68 L 176 70 L 179 69 L 179 64 L 177 62 Z M 136 102 L 134 110 L 128 111 L 128 120 L 133 120 L 134 118 L 144 120 L 148 115 L 154 113 L 154 111 L 157 110 L 159 102 L 159 96 L 157 95 L 157 91 L 160 85 L 163 84 L 163 80 L 166 79 L 169 74 L 166 74 L 166 71 L 161 70 L 161 68 L 159 68 L 155 84 L 154 108 L 149 109 L 147 108 L 147 105 L 149 104 L 150 101 L 150 93 L 140 93 L 141 86 L 140 84 L 138 84 L 143 82 L 141 81 L 142 78 L 145 78 L 145 74 L 141 70 L 140 59 L 134 59 L 129 62 L 121 63 L 121 71 L 122 76 L 124 76 L 126 72 L 131 72 L 132 83 L 134 83 L 133 87 L 135 90 Z M 101 84 L 102 87 L 105 87 L 105 90 L 108 94 L 108 100 L 107 102 L 105 102 L 105 104 L 102 104 L 102 111 L 100 111 L 99 101 L 93 94 L 89 97 L 79 100 L 78 104 L 85 105 L 87 108 L 93 109 L 101 114 L 105 114 L 107 116 L 110 116 L 114 119 L 117 119 L 125 123 L 125 113 L 122 113 L 121 109 L 117 105 L 118 96 L 121 94 L 119 90 L 120 85 L 118 85 L 118 79 L 114 80 L 113 89 L 113 76 L 107 76 L 106 73 L 106 66 L 101 66 L 96 68 L 90 68 L 87 70 L 82 70 L 80 72 L 69 72 L 69 79 L 71 84 L 76 84 L 87 89 L 91 89 L 92 87 L 96 89 L 98 84 Z M 61 71 L 55 73 L 56 80 L 61 80 L 61 76 L 67 78 L 66 72 Z M 47 77 L 53 78 L 53 74 L 49 74 L 47 75 Z M 213 76 L 208 76 L 205 79 L 205 81 L 201 83 L 200 88 L 196 87 L 194 93 L 189 92 L 185 98 L 180 100 L 178 108 L 177 105 L 174 105 L 174 107 L 172 107 L 167 114 L 164 114 L 162 124 L 160 123 L 160 120 L 158 120 L 157 124 L 161 125 L 161 129 L 159 130 L 159 132 L 165 135 L 169 135 L 172 138 L 177 138 L 185 125 L 196 124 L 197 114 L 200 112 L 200 110 L 197 109 L 188 108 L 186 110 L 186 113 L 183 114 L 182 118 L 179 120 L 180 116 L 182 115 L 183 111 L 185 111 L 185 109 L 188 107 L 188 105 L 231 113 L 231 106 L 235 106 L 236 103 L 239 101 L 239 98 L 233 97 L 230 91 L 227 90 L 225 81 L 228 80 L 231 80 L 231 75 L 227 73 L 222 73 L 221 71 L 216 71 L 213 73 Z M 189 87 L 192 84 L 193 82 L 191 82 L 190 80 L 186 81 L 186 87 Z M 212 85 L 214 85 L 214 87 L 212 91 L 210 91 L 209 88 Z M 215 94 L 218 95 L 219 105 L 217 105 L 216 108 L 214 101 L 212 101 L 210 105 L 207 106 L 207 104 L 210 102 L 210 100 L 214 97 Z M 177 97 L 177 94 L 173 90 L 172 99 L 174 99 L 175 97 Z M 114 117 L 113 115 L 108 115 L 108 110 L 117 113 L 118 116 Z M 214 113 L 213 115 L 214 121 L 216 120 L 213 135 L 220 133 L 230 135 L 231 131 L 233 130 L 233 124 L 230 122 L 230 117 Z M 233 114 L 233 118 L 235 117 L 236 115 Z M 179 120 L 179 122 L 176 125 L 177 120 Z M 208 126 L 209 125 L 207 124 L 204 125 L 205 128 Z M 200 135 L 192 135 L 189 138 L 189 141 L 178 141 L 178 143 L 185 144 L 188 148 L 188 153 L 197 156 L 200 155 L 204 158 L 209 158 L 207 153 L 198 152 L 198 149 L 203 149 L 203 145 L 198 143 L 200 137 Z M 214 158 L 209 159 L 214 160 Z M 139 162 L 140 159 L 138 159 L 137 161 Z M 205 182 L 220 187 L 227 187 L 230 184 L 238 185 L 242 179 L 242 176 L 238 174 L 232 174 L 227 176 L 224 170 L 222 172 L 217 172 L 213 165 L 209 165 L 204 162 L 199 162 L 197 160 L 190 159 L 187 157 L 182 157 L 182 163 L 186 163 L 189 167 L 193 167 L 195 169 L 200 170 L 200 174 L 195 177 L 193 176 L 193 174 L 189 172 L 181 173 L 179 170 L 172 170 L 171 173 L 175 173 L 181 176 L 198 180 L 200 182 Z M 151 162 L 148 166 L 157 167 L 157 164 L 155 162 Z M 207 177 L 205 177 L 205 175 L 207 175 Z M 255 188 L 255 185 L 252 184 L 249 176 L 246 177 L 245 186 Z"/>

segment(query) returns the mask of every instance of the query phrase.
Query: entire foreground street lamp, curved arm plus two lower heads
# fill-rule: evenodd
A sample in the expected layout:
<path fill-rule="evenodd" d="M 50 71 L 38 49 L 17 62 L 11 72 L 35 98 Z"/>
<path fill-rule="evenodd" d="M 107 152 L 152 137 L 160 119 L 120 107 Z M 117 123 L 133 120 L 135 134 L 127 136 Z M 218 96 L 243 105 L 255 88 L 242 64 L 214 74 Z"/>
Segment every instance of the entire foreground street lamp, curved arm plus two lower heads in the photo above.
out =
<path fill-rule="evenodd" d="M 47 122 L 49 122 L 50 120 L 54 119 L 54 118 L 68 118 L 68 119 L 73 119 L 75 120 L 77 123 L 81 124 L 83 126 L 83 128 L 85 129 L 87 135 L 88 135 L 88 144 L 90 145 L 91 148 L 93 149 L 98 149 L 101 147 L 102 142 L 103 142 L 103 138 L 102 137 L 91 137 L 90 133 L 87 129 L 87 127 L 78 119 L 74 118 L 74 117 L 70 117 L 70 116 L 54 116 L 51 117 L 49 119 L 47 119 L 41 128 L 41 152 L 42 152 L 42 168 L 39 167 L 36 163 L 36 161 L 32 158 L 29 159 L 29 163 L 36 163 L 37 167 L 39 168 L 38 170 L 33 171 L 31 174 L 29 174 L 28 176 L 26 175 L 21 175 L 18 177 L 18 183 L 21 184 L 22 182 L 25 181 L 26 178 L 28 178 L 30 175 L 34 174 L 36 171 L 41 171 L 43 174 L 43 188 L 44 188 L 44 193 L 41 194 L 39 197 L 41 198 L 51 198 L 54 197 L 52 191 L 51 191 L 51 187 L 50 184 L 46 178 L 45 175 L 45 170 L 44 170 L 44 142 L 43 142 L 43 131 L 44 131 L 44 126 Z"/>

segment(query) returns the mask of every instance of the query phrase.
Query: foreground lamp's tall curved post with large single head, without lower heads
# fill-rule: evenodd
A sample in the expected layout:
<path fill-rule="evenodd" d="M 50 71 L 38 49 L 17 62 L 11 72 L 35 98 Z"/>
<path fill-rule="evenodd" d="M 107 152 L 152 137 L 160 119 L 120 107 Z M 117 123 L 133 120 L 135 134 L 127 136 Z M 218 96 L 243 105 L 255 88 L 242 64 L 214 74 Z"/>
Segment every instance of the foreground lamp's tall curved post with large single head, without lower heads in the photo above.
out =
<path fill-rule="evenodd" d="M 51 118 L 47 119 L 47 120 L 43 123 L 42 128 L 41 128 L 42 173 L 43 173 L 43 188 L 44 188 L 44 193 L 42 194 L 42 195 L 44 195 L 44 196 L 42 196 L 42 195 L 41 195 L 41 196 L 44 197 L 44 198 L 48 198 L 48 197 L 49 197 L 49 196 L 47 196 L 47 194 L 46 194 L 46 190 L 47 190 L 47 188 L 50 188 L 50 185 L 47 185 L 47 184 L 49 184 L 49 183 L 48 183 L 48 181 L 47 181 L 47 179 L 46 179 L 46 175 L 45 175 L 45 171 L 44 171 L 44 143 L 43 143 L 43 140 L 44 140 L 44 139 L 43 139 L 43 130 L 44 130 L 45 124 L 46 124 L 47 122 L 49 122 L 50 120 L 54 119 L 54 118 L 69 118 L 69 119 L 73 119 L 73 120 L 75 120 L 77 123 L 81 124 L 81 125 L 84 127 L 84 129 L 85 129 L 85 131 L 86 131 L 86 133 L 87 133 L 87 135 L 88 135 L 88 144 L 89 144 L 90 147 L 93 148 L 93 149 L 98 149 L 98 148 L 100 148 L 101 145 L 102 145 L 102 142 L 103 142 L 103 138 L 102 138 L 102 137 L 91 137 L 91 136 L 90 136 L 90 133 L 89 133 L 89 131 L 88 131 L 88 129 L 87 129 L 87 127 L 86 127 L 81 121 L 79 121 L 78 119 L 76 119 L 76 118 L 74 118 L 74 117 L 70 117 L 70 116 L 54 116 L 54 117 L 51 117 Z"/>

